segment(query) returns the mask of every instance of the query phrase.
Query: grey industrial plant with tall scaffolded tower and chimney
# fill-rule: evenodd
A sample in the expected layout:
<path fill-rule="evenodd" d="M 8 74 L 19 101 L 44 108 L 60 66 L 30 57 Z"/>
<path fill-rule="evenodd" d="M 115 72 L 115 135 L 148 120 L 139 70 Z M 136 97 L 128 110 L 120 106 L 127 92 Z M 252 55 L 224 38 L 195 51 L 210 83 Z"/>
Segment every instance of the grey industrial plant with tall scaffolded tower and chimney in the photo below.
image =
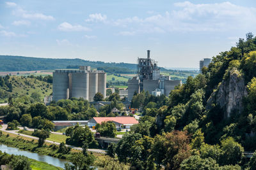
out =
<path fill-rule="evenodd" d="M 147 58 L 138 58 L 137 73 L 137 76 L 128 80 L 128 101 L 132 100 L 134 92 L 140 93 L 142 90 L 154 96 L 168 96 L 175 86 L 182 84 L 181 80 L 171 80 L 170 76 L 160 74 L 157 62 L 150 59 L 150 50 L 147 50 Z"/>

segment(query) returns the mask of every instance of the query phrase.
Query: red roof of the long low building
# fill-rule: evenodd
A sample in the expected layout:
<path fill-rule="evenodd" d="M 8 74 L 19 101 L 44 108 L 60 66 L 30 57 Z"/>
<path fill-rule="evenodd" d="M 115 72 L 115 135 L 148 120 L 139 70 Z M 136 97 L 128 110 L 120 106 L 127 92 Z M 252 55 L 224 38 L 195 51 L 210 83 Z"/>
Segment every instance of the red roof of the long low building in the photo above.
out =
<path fill-rule="evenodd" d="M 138 124 L 138 120 L 134 117 L 93 117 L 97 124 L 101 124 L 101 122 L 113 121 L 119 124 Z"/>

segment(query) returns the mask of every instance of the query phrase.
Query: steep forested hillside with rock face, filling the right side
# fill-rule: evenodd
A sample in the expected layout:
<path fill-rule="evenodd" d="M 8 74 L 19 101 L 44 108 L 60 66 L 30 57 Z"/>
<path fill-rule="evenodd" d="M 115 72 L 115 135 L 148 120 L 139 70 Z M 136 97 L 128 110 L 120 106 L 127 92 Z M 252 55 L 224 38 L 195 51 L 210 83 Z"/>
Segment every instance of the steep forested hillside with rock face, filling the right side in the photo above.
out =
<path fill-rule="evenodd" d="M 255 169 L 256 153 L 244 155 L 256 150 L 255 68 L 256 38 L 248 33 L 168 99 L 136 94 L 132 107 L 145 116 L 118 143 L 118 159 L 135 169 Z"/>

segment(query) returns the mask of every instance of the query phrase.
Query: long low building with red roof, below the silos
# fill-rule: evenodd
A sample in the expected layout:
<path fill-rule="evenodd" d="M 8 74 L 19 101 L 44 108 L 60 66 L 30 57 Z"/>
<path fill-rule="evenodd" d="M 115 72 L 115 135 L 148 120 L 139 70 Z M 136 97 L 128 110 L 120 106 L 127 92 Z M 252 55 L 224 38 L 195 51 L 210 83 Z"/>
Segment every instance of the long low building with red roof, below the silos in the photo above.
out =
<path fill-rule="evenodd" d="M 93 126 L 108 121 L 116 124 L 116 127 L 124 127 L 125 129 L 129 129 L 132 125 L 139 123 L 134 117 L 93 117 L 89 120 L 88 125 Z"/>

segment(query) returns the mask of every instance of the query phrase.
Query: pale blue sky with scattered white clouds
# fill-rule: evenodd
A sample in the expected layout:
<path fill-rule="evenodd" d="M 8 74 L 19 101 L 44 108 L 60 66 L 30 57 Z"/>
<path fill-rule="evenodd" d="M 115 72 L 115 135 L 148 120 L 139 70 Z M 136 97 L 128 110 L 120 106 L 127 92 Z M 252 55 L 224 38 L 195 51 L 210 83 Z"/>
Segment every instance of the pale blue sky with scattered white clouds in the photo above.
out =
<path fill-rule="evenodd" d="M 256 2 L 0 1 L 0 55 L 198 67 L 256 35 Z"/>

